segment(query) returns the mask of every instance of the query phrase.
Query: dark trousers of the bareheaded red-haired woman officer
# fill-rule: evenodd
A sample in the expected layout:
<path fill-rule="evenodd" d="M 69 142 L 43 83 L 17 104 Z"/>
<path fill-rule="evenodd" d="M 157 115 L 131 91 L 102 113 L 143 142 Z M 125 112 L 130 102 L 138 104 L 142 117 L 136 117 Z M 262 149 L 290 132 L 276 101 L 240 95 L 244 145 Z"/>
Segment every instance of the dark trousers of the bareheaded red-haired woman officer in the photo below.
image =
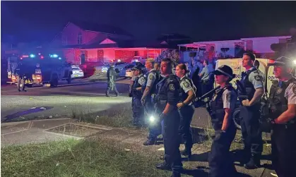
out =
<path fill-rule="evenodd" d="M 194 116 L 194 106 L 184 106 L 179 109 L 180 114 L 180 125 L 179 125 L 179 136 L 181 140 L 184 140 L 186 149 L 191 149 L 193 145 L 192 132 L 191 132 L 191 121 Z M 181 141 L 182 142 L 182 141 Z"/>

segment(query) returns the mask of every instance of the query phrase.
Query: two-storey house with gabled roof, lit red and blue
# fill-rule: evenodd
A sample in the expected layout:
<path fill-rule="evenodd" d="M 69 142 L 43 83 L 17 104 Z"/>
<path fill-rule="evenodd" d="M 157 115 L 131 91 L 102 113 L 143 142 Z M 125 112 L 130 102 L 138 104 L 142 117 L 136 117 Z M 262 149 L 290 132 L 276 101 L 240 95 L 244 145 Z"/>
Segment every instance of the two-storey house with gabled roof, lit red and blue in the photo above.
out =
<path fill-rule="evenodd" d="M 122 29 L 85 22 L 69 22 L 50 47 L 74 64 L 84 62 L 131 61 L 134 56 L 157 57 L 166 45 L 136 44 L 134 37 Z"/>

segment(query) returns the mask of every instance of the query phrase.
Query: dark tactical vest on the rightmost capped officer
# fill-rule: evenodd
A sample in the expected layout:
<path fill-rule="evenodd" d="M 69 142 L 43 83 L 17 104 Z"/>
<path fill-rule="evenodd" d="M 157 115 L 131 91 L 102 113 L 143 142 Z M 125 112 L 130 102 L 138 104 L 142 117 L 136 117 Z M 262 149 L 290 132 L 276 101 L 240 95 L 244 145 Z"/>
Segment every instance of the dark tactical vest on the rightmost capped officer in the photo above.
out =
<path fill-rule="evenodd" d="M 278 85 L 271 87 L 271 92 L 268 99 L 269 115 L 271 118 L 278 118 L 280 114 L 288 109 L 288 98 L 285 97 L 285 90 L 290 83 L 295 83 L 296 79 L 288 80 L 287 83 L 279 82 Z M 295 121 L 295 118 L 293 118 Z"/>

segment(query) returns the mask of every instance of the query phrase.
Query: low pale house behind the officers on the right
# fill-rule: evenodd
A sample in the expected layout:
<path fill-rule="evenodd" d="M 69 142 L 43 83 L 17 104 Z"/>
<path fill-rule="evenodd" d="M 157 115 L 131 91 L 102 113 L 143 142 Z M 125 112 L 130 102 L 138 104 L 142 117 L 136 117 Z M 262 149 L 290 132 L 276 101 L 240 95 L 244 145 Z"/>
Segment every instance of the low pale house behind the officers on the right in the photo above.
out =
<path fill-rule="evenodd" d="M 286 42 L 291 36 L 276 37 L 249 37 L 236 40 L 194 42 L 191 44 L 179 44 L 179 49 L 183 48 L 181 58 L 183 61 L 189 61 L 189 53 L 197 51 L 200 58 L 206 57 L 213 59 L 222 56 L 225 58 L 234 58 L 240 51 L 254 51 L 261 55 L 261 58 L 271 58 L 274 51 L 271 50 L 271 44 Z"/>

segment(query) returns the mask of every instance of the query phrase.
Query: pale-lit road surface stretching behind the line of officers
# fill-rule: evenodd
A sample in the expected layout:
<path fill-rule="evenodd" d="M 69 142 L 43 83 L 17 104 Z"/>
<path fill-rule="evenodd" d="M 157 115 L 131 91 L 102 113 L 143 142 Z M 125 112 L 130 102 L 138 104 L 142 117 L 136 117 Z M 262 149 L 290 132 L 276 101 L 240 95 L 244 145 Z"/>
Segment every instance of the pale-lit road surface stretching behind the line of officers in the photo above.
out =
<path fill-rule="evenodd" d="M 16 85 L 1 86 L 1 122 L 16 119 L 73 117 L 73 114 L 95 113 L 124 104 L 131 108 L 128 97 L 129 80 L 117 82 L 119 97 L 105 97 L 106 83 L 88 83 L 82 80 L 56 88 L 32 87 L 28 92 L 17 92 Z M 211 128 L 206 109 L 196 109 L 191 126 Z"/>

